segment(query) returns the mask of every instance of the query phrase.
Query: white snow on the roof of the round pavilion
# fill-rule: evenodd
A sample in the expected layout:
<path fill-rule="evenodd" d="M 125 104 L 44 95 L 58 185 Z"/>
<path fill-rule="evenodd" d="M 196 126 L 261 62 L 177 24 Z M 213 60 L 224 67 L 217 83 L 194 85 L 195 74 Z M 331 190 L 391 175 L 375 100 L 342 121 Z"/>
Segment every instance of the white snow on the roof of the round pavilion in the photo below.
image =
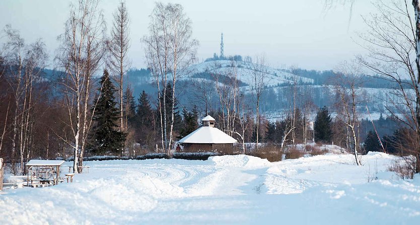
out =
<path fill-rule="evenodd" d="M 217 128 L 200 127 L 179 140 L 179 142 L 196 144 L 231 144 L 236 143 L 237 141 Z"/>

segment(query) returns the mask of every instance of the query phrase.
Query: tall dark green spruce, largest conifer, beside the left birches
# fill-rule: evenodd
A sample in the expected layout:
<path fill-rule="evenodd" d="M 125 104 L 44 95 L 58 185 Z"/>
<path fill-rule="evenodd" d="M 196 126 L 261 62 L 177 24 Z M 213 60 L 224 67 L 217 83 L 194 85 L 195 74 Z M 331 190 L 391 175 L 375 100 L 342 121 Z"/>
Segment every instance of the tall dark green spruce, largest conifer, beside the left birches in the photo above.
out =
<path fill-rule="evenodd" d="M 94 138 L 92 151 L 94 154 L 120 154 L 125 142 L 125 134 L 119 130 L 119 110 L 115 107 L 115 87 L 109 79 L 107 70 L 101 78 L 100 96 L 96 105 L 93 120 Z M 102 89 L 102 90 L 101 90 Z"/>

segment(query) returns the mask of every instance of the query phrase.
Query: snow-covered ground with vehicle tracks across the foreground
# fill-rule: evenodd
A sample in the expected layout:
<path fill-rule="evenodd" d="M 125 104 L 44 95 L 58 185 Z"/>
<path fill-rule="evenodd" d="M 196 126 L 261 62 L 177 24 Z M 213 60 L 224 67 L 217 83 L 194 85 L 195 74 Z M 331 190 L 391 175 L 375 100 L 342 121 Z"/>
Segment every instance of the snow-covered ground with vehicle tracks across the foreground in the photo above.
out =
<path fill-rule="evenodd" d="M 387 172 L 395 159 L 93 161 L 73 183 L 6 190 L 0 224 L 419 224 L 420 177 Z"/>

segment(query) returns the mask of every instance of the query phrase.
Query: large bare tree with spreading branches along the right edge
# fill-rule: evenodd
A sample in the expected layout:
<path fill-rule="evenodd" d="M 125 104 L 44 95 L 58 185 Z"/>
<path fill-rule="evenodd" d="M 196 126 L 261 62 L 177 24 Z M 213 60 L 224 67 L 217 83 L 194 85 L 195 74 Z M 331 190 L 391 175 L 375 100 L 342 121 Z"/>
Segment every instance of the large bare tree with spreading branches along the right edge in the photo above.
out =
<path fill-rule="evenodd" d="M 412 1 L 414 17 L 409 0 L 385 4 L 377 1 L 377 13 L 365 19 L 369 30 L 361 34 L 367 57 L 358 57 L 382 79 L 394 83 L 387 107 L 390 113 L 404 126 L 412 130 L 409 141 L 416 140 L 416 148 L 407 149 L 414 156 L 415 172 L 420 172 L 420 12 L 419 2 Z M 402 115 L 402 116 L 401 116 Z M 407 140 L 408 141 L 408 140 Z"/>

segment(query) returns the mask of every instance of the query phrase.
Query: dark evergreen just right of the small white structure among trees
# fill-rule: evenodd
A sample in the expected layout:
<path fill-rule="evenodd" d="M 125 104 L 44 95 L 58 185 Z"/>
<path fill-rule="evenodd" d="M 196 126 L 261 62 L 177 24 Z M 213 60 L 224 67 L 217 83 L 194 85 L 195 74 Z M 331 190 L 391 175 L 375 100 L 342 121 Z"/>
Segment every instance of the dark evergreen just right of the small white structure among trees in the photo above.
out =
<path fill-rule="evenodd" d="M 331 142 L 331 116 L 329 115 L 327 106 L 322 107 L 315 118 L 314 124 L 315 141 Z"/>

